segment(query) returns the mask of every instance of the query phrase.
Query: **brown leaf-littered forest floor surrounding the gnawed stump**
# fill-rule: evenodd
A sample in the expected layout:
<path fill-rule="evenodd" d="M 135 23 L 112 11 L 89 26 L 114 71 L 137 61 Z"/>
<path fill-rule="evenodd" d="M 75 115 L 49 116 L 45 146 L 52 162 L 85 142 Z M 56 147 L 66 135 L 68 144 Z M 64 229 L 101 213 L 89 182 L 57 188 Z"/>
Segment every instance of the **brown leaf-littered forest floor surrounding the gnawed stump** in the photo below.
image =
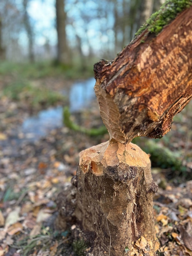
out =
<path fill-rule="evenodd" d="M 3 76 L 0 91 L 12 79 L 14 76 Z M 58 92 L 72 83 L 61 76 L 30 82 Z M 84 255 L 85 244 L 72 241 L 70 230 L 55 229 L 56 199 L 76 173 L 79 152 L 108 140 L 108 135 L 90 137 L 63 126 L 35 141 L 28 140 L 19 127 L 26 117 L 45 108 L 45 104 L 34 108 L 29 96 L 19 100 L 0 96 L 0 256 Z M 170 135 L 163 142 L 158 141 L 159 147 L 169 145 L 173 153 L 179 152 L 181 170 L 152 164 L 154 181 L 159 185 L 154 196 L 156 255 L 192 255 L 190 108 L 179 114 Z M 72 117 L 86 128 L 102 124 L 96 100 L 90 108 Z M 146 254 L 143 240 L 137 241 L 134 248 L 132 255 L 137 255 L 138 250 L 140 256 L 150 255 Z"/>

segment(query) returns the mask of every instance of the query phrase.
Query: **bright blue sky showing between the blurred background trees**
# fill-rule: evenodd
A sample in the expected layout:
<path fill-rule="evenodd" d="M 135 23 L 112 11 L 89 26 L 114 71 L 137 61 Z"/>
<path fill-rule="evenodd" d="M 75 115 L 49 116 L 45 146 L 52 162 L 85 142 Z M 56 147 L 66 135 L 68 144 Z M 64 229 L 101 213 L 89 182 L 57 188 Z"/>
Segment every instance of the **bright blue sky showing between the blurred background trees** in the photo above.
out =
<path fill-rule="evenodd" d="M 18 3 L 20 0 L 17 0 Z M 75 3 L 76 2 L 76 3 Z M 104 2 L 106 3 L 106 2 Z M 103 3 L 103 4 L 104 4 Z M 97 5 L 99 2 L 88 0 L 86 4 L 81 1 L 67 0 L 66 12 L 70 24 L 67 25 L 66 31 L 70 42 L 73 46 L 76 43 L 75 34 L 82 38 L 82 50 L 84 54 L 88 53 L 87 40 L 94 49 L 95 52 L 100 51 L 103 47 L 113 49 L 114 42 L 112 39 L 113 32 L 113 17 L 110 12 L 108 14 L 108 20 L 104 17 L 97 17 Z M 110 9 L 110 5 L 106 8 Z M 86 12 L 91 12 L 89 22 L 82 19 L 82 12 L 86 15 Z M 37 45 L 44 45 L 46 39 L 52 45 L 57 44 L 57 32 L 55 27 L 55 0 L 31 0 L 28 4 L 28 14 L 31 17 L 31 21 L 35 31 L 35 42 Z M 102 28 L 108 27 L 106 34 L 102 34 Z M 85 32 L 85 27 L 87 31 Z M 27 45 L 27 36 L 25 31 L 21 32 L 20 44 Z"/>

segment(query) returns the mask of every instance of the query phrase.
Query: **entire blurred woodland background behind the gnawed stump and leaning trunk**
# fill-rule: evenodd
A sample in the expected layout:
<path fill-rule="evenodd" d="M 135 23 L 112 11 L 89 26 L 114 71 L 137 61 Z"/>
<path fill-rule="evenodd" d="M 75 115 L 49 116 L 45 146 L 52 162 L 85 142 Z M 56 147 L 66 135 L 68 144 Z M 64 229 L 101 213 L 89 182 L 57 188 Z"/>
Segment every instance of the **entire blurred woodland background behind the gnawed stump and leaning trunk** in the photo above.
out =
<path fill-rule="evenodd" d="M 72 241 L 70 230 L 55 230 L 54 220 L 57 195 L 76 173 L 79 152 L 108 140 L 107 133 L 87 132 L 102 127 L 93 64 L 115 58 L 161 4 L 1 0 L 0 255 L 84 255 L 88 245 Z M 71 120 L 86 129 L 64 124 L 66 106 Z M 185 232 L 192 233 L 191 118 L 189 103 L 164 138 L 133 141 L 151 155 L 159 185 L 158 255 L 192 255 L 192 236 Z"/>

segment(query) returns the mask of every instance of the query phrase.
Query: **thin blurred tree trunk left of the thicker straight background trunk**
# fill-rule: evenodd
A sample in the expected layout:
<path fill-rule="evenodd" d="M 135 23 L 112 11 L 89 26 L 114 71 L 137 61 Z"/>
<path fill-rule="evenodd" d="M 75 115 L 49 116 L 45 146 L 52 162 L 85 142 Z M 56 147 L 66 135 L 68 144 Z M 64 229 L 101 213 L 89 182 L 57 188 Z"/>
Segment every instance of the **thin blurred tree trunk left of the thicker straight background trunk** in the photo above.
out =
<path fill-rule="evenodd" d="M 33 29 L 30 24 L 29 20 L 29 15 L 27 12 L 27 6 L 28 6 L 28 0 L 23 0 L 23 8 L 24 8 L 24 26 L 27 32 L 28 36 L 28 54 L 29 54 L 29 60 L 30 62 L 34 62 L 35 57 L 34 57 L 34 52 L 33 52 L 33 47 L 34 47 L 34 35 L 33 35 Z"/>

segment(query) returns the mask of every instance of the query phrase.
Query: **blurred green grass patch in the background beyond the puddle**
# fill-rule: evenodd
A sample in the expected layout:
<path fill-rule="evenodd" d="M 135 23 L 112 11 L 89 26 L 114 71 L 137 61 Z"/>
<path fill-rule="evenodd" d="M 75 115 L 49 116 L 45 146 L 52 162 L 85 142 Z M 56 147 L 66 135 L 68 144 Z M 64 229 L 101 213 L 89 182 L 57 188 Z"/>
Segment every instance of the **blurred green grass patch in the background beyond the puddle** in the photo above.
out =
<path fill-rule="evenodd" d="M 82 71 L 81 65 L 68 66 L 56 62 L 12 63 L 0 62 L 0 76 L 3 77 L 3 88 L 0 98 L 6 96 L 13 101 L 28 103 L 31 108 L 47 108 L 57 103 L 66 102 L 59 92 L 54 92 L 43 85 L 43 78 L 60 77 L 63 82 L 93 76 L 93 64 Z M 4 79 L 5 78 L 5 79 Z M 37 86 L 36 84 L 42 84 Z M 54 84 L 53 84 L 54 88 Z"/>

